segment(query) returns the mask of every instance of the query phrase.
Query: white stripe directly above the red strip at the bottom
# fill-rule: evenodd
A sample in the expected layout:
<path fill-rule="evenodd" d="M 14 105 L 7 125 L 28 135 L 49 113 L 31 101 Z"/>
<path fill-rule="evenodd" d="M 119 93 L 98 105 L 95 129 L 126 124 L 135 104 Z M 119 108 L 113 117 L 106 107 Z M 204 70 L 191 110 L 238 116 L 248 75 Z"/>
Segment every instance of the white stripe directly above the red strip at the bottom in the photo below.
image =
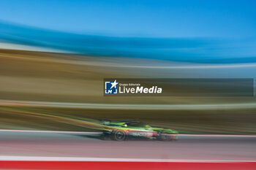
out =
<path fill-rule="evenodd" d="M 140 159 L 140 158 L 80 158 L 80 157 L 42 157 L 42 156 L 8 156 L 1 155 L 0 161 L 103 161 L 103 162 L 198 162 L 198 163 L 233 163 L 252 162 L 255 160 L 176 160 L 176 159 Z"/>

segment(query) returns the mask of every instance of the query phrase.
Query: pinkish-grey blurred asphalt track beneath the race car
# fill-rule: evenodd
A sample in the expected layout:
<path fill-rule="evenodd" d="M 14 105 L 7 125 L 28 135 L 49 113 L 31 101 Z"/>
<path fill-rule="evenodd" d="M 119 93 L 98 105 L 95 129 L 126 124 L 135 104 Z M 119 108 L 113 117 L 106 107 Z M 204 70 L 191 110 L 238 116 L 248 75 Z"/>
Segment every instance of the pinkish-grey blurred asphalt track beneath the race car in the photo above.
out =
<path fill-rule="evenodd" d="M 256 161 L 256 136 L 179 136 L 176 142 L 104 141 L 94 133 L 0 131 L 0 156 Z"/>

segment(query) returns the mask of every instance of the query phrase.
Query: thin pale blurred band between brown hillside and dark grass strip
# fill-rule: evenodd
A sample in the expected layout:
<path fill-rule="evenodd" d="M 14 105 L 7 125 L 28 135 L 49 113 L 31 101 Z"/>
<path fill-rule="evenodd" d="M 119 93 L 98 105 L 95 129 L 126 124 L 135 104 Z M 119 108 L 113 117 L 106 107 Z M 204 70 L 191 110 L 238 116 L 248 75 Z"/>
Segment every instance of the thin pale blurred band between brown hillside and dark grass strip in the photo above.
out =
<path fill-rule="evenodd" d="M 48 101 L 0 100 L 0 106 L 59 107 L 79 109 L 135 109 L 135 110 L 207 110 L 207 109 L 255 109 L 255 102 L 227 104 L 89 104 Z"/>

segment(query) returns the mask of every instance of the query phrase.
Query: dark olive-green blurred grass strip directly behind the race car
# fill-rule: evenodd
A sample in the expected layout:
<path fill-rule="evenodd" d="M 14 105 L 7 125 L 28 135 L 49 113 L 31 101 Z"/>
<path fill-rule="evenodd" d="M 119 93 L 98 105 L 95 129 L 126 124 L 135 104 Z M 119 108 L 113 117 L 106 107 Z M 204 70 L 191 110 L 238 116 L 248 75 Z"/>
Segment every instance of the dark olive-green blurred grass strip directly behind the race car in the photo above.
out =
<path fill-rule="evenodd" d="M 141 120 L 173 128 L 181 134 L 256 134 L 254 110 L 143 111 L 63 109 L 51 107 L 0 107 L 0 128 L 55 131 L 97 131 L 97 119 Z"/>

